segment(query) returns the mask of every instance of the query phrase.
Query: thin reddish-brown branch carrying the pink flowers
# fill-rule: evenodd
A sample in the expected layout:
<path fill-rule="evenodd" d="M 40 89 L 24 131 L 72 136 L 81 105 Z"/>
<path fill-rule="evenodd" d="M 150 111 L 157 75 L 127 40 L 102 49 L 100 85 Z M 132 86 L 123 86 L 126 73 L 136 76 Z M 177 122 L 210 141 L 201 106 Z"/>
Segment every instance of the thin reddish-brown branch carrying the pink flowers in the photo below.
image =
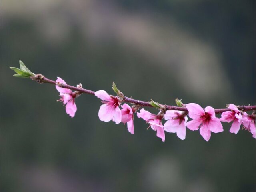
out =
<path fill-rule="evenodd" d="M 84 88 L 77 88 L 77 87 L 74 87 L 71 85 L 58 84 L 56 81 L 50 80 L 50 79 L 44 77 L 42 74 L 37 74 L 35 76 L 31 76 L 30 78 L 32 80 L 36 80 L 38 83 L 50 83 L 50 84 L 58 85 L 62 88 L 68 88 L 68 89 L 71 89 L 74 91 L 79 91 L 80 93 L 86 93 L 86 94 L 91 94 L 91 95 L 94 95 L 94 93 L 95 93 L 92 90 L 87 90 Z M 123 100 L 125 102 L 132 103 L 132 104 L 138 104 L 140 106 L 153 107 L 149 102 L 132 99 L 132 98 L 129 98 L 126 96 L 124 96 Z M 167 110 L 178 110 L 178 111 L 188 112 L 186 107 L 178 107 L 178 106 L 163 105 L 163 104 L 160 104 L 160 105 L 165 106 Z M 254 106 L 238 106 L 238 108 L 239 108 L 239 110 L 250 111 L 250 110 L 255 110 L 255 105 Z M 231 109 L 229 109 L 229 108 L 215 109 L 216 114 L 219 114 L 219 113 L 222 113 L 225 111 L 231 111 Z"/>

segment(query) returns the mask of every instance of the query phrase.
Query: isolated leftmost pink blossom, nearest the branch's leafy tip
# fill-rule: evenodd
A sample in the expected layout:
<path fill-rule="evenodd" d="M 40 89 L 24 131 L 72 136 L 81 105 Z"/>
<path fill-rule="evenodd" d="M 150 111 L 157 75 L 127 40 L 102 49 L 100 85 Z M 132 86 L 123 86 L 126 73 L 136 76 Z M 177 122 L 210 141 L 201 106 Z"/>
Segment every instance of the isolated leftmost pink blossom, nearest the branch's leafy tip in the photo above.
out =
<path fill-rule="evenodd" d="M 66 82 L 59 77 L 57 77 L 56 82 L 66 85 Z M 70 117 L 74 117 L 77 110 L 75 104 L 76 94 L 73 93 L 72 90 L 59 87 L 58 85 L 56 85 L 56 89 L 60 92 L 60 99 L 57 101 L 63 102 L 64 105 L 66 104 L 66 113 L 69 114 Z"/>

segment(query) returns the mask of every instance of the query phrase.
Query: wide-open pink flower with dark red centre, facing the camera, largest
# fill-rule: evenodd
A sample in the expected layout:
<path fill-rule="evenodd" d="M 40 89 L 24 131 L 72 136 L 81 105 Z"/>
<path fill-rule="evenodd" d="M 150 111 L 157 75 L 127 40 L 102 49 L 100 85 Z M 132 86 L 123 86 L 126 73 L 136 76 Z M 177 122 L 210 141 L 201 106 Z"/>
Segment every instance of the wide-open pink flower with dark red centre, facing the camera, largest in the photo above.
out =
<path fill-rule="evenodd" d="M 192 130 L 198 130 L 200 128 L 200 134 L 208 141 L 211 137 L 211 132 L 219 133 L 223 131 L 222 124 L 218 118 L 215 117 L 214 108 L 208 106 L 203 108 L 196 103 L 186 104 L 188 109 L 188 115 L 193 120 L 187 122 L 187 127 Z"/>

